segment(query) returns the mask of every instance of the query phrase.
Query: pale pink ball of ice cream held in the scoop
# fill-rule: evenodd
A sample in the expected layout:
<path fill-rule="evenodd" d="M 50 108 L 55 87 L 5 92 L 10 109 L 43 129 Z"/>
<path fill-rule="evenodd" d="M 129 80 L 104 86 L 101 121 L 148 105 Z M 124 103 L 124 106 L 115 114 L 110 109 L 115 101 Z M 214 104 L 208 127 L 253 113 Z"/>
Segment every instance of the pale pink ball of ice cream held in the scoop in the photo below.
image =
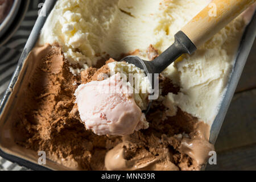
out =
<path fill-rule="evenodd" d="M 129 135 L 148 123 L 134 100 L 133 88 L 119 73 L 82 84 L 75 92 L 80 118 L 97 135 Z"/>

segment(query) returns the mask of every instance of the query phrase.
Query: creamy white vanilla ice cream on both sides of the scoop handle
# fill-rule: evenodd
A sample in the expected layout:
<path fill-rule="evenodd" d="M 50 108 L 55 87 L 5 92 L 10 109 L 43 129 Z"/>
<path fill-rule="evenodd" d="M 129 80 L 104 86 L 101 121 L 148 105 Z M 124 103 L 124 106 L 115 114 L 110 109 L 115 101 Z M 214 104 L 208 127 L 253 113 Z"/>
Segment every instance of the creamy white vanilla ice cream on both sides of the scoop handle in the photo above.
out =
<path fill-rule="evenodd" d="M 58 1 L 49 15 L 39 39 L 40 44 L 58 42 L 71 64 L 86 69 L 107 55 L 119 58 L 139 49 L 147 58 L 152 44 L 163 52 L 174 35 L 210 0 L 111 0 Z M 54 18 L 53 18 L 54 17 Z M 244 28 L 241 17 L 234 20 L 193 55 L 184 55 L 163 75 L 180 86 L 178 94 L 168 94 L 165 105 L 200 118 L 212 125 L 224 96 L 234 56 Z M 241 34 L 237 35 L 237 32 Z M 236 38 L 233 35 L 236 34 Z M 72 69 L 79 73 L 80 69 Z M 168 101 L 171 101 L 168 103 Z"/>

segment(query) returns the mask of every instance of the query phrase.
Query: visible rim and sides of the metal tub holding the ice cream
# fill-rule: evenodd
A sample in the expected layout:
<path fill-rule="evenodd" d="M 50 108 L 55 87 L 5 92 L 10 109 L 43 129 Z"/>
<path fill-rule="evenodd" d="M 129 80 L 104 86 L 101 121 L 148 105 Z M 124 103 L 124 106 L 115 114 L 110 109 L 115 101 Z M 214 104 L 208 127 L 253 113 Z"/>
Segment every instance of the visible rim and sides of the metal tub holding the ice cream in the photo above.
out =
<path fill-rule="evenodd" d="M 10 115 L 14 115 L 15 110 L 13 109 L 15 104 L 22 98 L 19 97 L 19 92 L 22 89 L 23 82 L 26 81 L 26 76 L 30 74 L 31 64 L 26 61 L 28 53 L 35 46 L 40 30 L 46 22 L 47 16 L 53 9 L 56 0 L 47 0 L 44 3 L 42 11 L 46 16 L 39 16 L 35 23 L 35 26 L 28 38 L 27 44 L 23 50 L 22 56 L 19 59 L 18 67 L 14 72 L 13 78 L 11 79 L 10 85 L 5 92 L 0 105 L 0 156 L 10 160 L 11 162 L 17 163 L 20 166 L 24 166 L 30 169 L 67 169 L 60 164 L 57 164 L 47 159 L 47 165 L 40 166 L 38 164 L 37 152 L 32 152 L 24 147 L 20 147 L 15 144 L 14 139 L 10 136 L 11 125 L 13 121 L 9 119 Z M 230 101 L 232 100 L 233 94 L 236 90 L 238 81 L 245 66 L 247 56 L 249 55 L 251 46 L 253 45 L 256 35 L 256 15 L 254 14 L 253 19 L 246 27 L 243 34 L 240 47 L 236 55 L 236 62 L 234 64 L 232 75 L 226 89 L 224 99 L 221 102 L 220 110 L 215 118 L 212 129 L 210 131 L 210 142 L 215 143 L 218 133 L 221 129 L 222 122 L 224 121 L 226 111 L 228 110 Z"/>

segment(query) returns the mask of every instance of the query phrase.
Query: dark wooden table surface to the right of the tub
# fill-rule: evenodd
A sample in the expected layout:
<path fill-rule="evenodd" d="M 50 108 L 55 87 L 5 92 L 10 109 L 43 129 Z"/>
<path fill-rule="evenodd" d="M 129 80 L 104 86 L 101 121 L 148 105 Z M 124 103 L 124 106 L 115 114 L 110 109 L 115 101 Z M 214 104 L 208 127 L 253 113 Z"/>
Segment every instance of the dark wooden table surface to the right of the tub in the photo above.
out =
<path fill-rule="evenodd" d="M 207 170 L 256 170 L 256 41 L 215 144 Z"/>

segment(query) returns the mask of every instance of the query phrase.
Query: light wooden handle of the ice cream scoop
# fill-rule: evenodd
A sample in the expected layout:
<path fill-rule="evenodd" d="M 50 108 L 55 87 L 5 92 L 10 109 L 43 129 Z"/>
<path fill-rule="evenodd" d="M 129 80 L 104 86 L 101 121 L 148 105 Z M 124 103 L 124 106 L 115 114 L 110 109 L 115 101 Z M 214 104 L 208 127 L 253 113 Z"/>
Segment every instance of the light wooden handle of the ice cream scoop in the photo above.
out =
<path fill-rule="evenodd" d="M 181 31 L 196 47 L 207 42 L 213 35 L 240 15 L 256 0 L 213 0 L 195 16 Z"/>

